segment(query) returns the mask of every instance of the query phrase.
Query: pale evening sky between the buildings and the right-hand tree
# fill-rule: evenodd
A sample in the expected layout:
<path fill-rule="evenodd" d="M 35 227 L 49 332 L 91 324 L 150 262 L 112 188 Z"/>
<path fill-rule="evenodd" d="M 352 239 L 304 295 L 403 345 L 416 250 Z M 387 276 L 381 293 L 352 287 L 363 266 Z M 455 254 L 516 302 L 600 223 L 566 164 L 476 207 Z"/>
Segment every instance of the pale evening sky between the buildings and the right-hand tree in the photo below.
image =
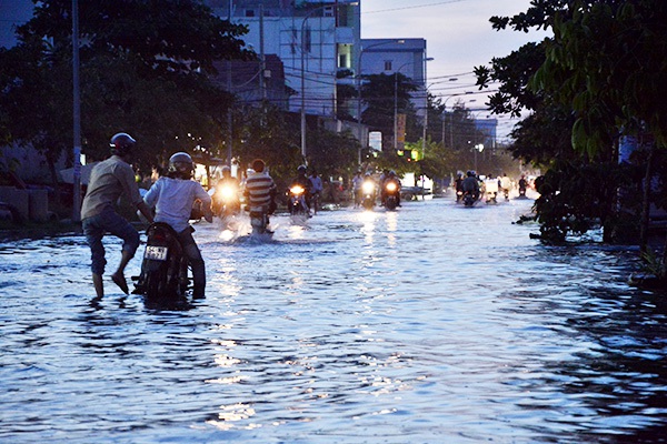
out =
<path fill-rule="evenodd" d="M 360 4 L 362 39 L 426 39 L 427 58 L 434 58 L 427 63 L 430 93 L 440 97 L 448 109 L 460 99 L 476 118 L 498 119 L 498 138 L 507 137 L 518 120 L 486 111 L 487 94 L 475 87 L 472 69 L 548 36 L 491 28 L 492 16 L 525 12 L 530 0 L 361 0 Z M 466 94 L 469 91 L 475 93 Z"/>

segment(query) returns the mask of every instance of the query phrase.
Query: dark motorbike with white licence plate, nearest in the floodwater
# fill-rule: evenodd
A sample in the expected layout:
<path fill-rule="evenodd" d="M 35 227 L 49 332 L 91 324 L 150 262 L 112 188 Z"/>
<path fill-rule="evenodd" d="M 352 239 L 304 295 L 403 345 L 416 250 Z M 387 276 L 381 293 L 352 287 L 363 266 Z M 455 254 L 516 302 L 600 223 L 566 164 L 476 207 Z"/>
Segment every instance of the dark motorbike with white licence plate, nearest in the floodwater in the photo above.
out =
<path fill-rule="evenodd" d="M 136 280 L 135 294 L 150 302 L 176 302 L 186 296 L 190 284 L 188 259 L 173 229 L 163 222 L 151 223 Z"/>

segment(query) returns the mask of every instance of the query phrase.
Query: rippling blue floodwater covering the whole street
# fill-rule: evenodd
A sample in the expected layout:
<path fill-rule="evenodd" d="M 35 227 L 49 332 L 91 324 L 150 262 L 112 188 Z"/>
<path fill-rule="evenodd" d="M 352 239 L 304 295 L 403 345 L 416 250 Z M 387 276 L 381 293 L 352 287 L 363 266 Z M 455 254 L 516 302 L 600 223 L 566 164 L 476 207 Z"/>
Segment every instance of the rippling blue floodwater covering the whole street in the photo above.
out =
<path fill-rule="evenodd" d="M 666 442 L 667 295 L 531 240 L 531 203 L 200 223 L 182 310 L 96 301 L 79 234 L 0 243 L 0 442 Z"/>

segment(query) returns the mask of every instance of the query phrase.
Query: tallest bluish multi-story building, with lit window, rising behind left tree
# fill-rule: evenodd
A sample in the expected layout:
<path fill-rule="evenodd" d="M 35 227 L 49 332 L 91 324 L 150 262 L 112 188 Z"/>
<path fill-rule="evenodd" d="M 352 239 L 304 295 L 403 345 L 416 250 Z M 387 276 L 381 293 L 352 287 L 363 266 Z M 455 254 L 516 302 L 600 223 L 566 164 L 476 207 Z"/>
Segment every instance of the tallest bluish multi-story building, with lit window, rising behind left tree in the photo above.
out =
<path fill-rule="evenodd" d="M 336 115 L 339 71 L 354 72 L 360 39 L 359 2 L 342 0 L 206 0 L 213 12 L 248 27 L 247 46 L 276 54 L 291 90 L 289 110 Z M 348 80 L 351 82 L 351 80 Z"/>

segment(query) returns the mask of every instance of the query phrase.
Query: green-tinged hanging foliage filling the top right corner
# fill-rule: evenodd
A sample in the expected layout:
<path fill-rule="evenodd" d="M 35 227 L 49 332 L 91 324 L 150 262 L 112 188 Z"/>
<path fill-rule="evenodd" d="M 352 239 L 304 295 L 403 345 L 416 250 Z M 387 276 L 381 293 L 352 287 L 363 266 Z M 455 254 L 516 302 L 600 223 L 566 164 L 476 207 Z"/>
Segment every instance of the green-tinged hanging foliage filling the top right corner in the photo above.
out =
<path fill-rule="evenodd" d="M 555 13 L 554 40 L 531 87 L 571 105 L 573 145 L 589 157 L 619 134 L 667 142 L 667 3 L 574 1 Z"/>

